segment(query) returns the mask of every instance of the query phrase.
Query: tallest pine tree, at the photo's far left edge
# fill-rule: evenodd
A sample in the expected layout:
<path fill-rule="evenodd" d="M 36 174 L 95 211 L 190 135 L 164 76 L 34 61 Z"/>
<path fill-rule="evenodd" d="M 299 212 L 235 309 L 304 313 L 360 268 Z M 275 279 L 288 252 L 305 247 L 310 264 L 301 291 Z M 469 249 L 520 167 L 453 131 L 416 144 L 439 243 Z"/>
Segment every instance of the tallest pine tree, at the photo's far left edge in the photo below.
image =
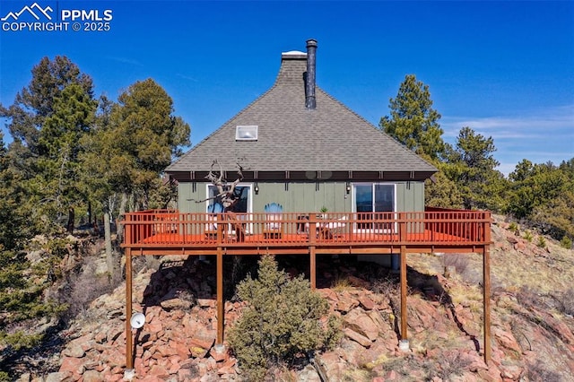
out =
<path fill-rule="evenodd" d="M 48 232 L 58 230 L 82 199 L 75 185 L 78 141 L 93 118 L 93 85 L 65 56 L 42 58 L 31 74 L 28 86 L 1 114 L 13 136 L 11 166 L 22 177 L 26 203 L 35 207 L 34 221 L 42 221 Z"/>

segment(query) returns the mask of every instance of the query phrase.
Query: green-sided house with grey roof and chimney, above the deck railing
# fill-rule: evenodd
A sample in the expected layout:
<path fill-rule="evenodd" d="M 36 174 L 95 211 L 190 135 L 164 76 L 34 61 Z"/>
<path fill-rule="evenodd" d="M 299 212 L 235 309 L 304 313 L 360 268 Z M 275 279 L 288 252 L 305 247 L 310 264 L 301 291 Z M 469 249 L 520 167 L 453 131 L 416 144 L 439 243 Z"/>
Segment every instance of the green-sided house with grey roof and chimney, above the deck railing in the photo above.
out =
<path fill-rule="evenodd" d="M 213 161 L 228 180 L 244 169 L 236 213 L 269 203 L 297 213 L 424 211 L 424 180 L 437 169 L 319 88 L 316 52 L 309 39 L 307 53 L 283 53 L 271 89 L 166 169 L 179 212 L 208 211 Z"/>

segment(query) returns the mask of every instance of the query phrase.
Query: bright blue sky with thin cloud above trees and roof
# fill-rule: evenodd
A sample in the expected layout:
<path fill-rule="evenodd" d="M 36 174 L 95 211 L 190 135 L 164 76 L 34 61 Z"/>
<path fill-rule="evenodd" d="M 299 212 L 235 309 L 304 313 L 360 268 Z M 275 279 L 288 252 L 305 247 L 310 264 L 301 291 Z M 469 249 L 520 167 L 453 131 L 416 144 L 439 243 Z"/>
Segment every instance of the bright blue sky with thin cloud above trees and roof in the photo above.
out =
<path fill-rule="evenodd" d="M 64 55 L 91 75 L 98 96 L 117 100 L 138 80 L 159 82 L 196 144 L 273 85 L 281 52 L 304 51 L 313 38 L 317 84 L 374 125 L 415 74 L 430 87 L 444 139 L 455 143 L 462 126 L 491 136 L 505 174 L 525 158 L 574 157 L 574 2 L 36 3 L 52 8 L 53 21 L 65 10 L 97 10 L 100 19 L 109 10 L 109 30 L 74 31 L 69 19 L 68 30 L 10 30 L 19 27 L 7 19 L 4 106 L 43 56 Z M 2 0 L 0 18 L 32 4 Z M 3 131 L 10 141 L 4 123 Z"/>

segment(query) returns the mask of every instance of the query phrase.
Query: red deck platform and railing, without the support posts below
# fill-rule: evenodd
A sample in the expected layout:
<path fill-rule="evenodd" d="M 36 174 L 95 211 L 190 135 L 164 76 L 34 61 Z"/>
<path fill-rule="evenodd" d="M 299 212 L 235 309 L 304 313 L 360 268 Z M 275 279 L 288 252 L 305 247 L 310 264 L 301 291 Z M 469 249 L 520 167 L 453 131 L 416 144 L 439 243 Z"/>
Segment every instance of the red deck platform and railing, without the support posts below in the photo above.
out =
<path fill-rule="evenodd" d="M 473 246 L 490 243 L 491 213 L 126 213 L 123 247 Z"/>

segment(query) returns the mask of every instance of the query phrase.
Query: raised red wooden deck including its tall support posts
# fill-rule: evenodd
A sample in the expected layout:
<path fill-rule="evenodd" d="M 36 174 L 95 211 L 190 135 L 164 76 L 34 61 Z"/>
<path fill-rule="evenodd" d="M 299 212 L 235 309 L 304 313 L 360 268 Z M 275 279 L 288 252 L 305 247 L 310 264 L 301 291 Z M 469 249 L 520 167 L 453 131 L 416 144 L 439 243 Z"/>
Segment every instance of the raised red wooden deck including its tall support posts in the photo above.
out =
<path fill-rule="evenodd" d="M 132 316 L 132 258 L 147 255 L 215 256 L 217 344 L 223 344 L 223 256 L 309 256 L 309 278 L 316 287 L 317 255 L 400 256 L 401 341 L 407 337 L 406 255 L 478 253 L 483 255 L 483 355 L 491 358 L 491 213 L 427 207 L 410 213 L 179 213 L 154 210 L 124 216 L 126 317 Z M 220 319 L 221 318 L 221 319 Z M 134 347 L 126 320 L 126 364 Z"/>

